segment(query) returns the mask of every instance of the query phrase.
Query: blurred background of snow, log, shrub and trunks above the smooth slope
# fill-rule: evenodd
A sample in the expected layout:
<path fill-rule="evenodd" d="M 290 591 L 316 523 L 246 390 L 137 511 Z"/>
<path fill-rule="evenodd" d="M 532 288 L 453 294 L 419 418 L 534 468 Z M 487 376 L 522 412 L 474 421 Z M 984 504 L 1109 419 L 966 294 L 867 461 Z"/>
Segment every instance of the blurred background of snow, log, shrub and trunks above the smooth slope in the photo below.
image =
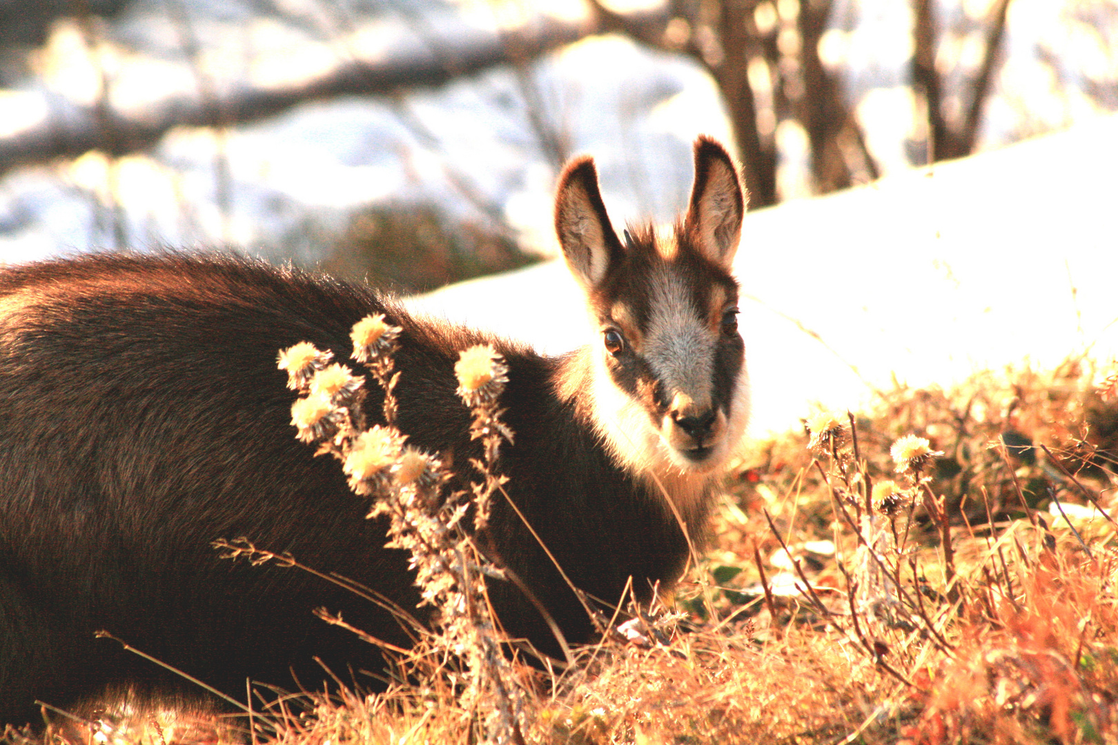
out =
<path fill-rule="evenodd" d="M 691 143 L 750 209 L 1118 109 L 1118 0 L 0 0 L 0 261 L 212 246 L 401 292 L 626 219 Z"/>

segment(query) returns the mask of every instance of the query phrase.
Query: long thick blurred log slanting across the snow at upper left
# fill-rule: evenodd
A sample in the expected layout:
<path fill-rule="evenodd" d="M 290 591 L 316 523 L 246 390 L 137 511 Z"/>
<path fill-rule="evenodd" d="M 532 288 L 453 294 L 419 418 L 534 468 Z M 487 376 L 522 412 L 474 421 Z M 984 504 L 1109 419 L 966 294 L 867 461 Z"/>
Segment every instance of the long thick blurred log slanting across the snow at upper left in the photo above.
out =
<path fill-rule="evenodd" d="M 154 145 L 176 126 L 220 127 L 274 116 L 309 101 L 438 87 L 496 65 L 539 57 L 596 31 L 593 25 L 543 18 L 500 36 L 464 35 L 446 42 L 437 54 L 418 48 L 376 61 L 350 60 L 324 75 L 286 86 L 233 83 L 209 101 L 173 96 L 129 113 L 97 104 L 77 105 L 44 93 L 51 116 L 30 128 L 0 135 L 0 174 L 91 150 L 126 155 Z"/>

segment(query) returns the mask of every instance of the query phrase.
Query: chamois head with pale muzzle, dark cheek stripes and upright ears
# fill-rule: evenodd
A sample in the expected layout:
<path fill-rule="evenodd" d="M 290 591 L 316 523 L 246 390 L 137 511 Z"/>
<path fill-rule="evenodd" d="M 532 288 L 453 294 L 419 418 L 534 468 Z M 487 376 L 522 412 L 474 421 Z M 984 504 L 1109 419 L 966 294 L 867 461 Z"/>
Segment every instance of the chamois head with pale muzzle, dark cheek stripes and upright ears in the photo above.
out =
<path fill-rule="evenodd" d="M 745 198 L 733 161 L 700 137 L 686 214 L 618 239 L 594 161 L 563 171 L 556 230 L 600 336 L 590 348 L 593 417 L 637 474 L 698 477 L 722 467 L 749 416 L 738 284 L 730 275 Z"/>

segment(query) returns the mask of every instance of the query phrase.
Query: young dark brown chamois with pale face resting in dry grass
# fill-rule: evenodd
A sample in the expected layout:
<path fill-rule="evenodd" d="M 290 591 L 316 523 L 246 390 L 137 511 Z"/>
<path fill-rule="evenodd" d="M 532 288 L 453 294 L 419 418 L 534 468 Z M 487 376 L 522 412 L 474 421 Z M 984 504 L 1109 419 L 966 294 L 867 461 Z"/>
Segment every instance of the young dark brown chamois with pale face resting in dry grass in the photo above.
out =
<path fill-rule="evenodd" d="M 319 687 L 314 656 L 347 678 L 378 669 L 375 648 L 316 606 L 408 643 L 377 604 L 211 547 L 246 536 L 420 615 L 407 554 L 385 547 L 385 524 L 364 519 L 338 462 L 293 436 L 276 367 L 302 341 L 344 359 L 369 314 L 402 327 L 396 395 L 409 443 L 467 468 L 479 445 L 453 366 L 492 343 L 508 362 L 501 404 L 515 433 L 498 470 L 527 522 L 591 598 L 618 602 L 631 577 L 644 601 L 669 588 L 749 409 L 730 275 L 742 192 L 718 143 L 700 139 L 694 154 L 685 217 L 624 242 L 593 161 L 563 172 L 556 229 L 597 333 L 560 357 L 240 258 L 95 255 L 0 270 L 0 722 L 34 718 L 35 700 L 183 688 L 98 629 L 233 696 L 248 677 L 294 688 L 294 672 Z M 381 393 L 367 388 L 377 412 Z M 568 641 L 590 639 L 586 611 L 500 495 L 482 543 Z M 491 598 L 511 636 L 556 649 L 512 582 L 493 581 Z"/>

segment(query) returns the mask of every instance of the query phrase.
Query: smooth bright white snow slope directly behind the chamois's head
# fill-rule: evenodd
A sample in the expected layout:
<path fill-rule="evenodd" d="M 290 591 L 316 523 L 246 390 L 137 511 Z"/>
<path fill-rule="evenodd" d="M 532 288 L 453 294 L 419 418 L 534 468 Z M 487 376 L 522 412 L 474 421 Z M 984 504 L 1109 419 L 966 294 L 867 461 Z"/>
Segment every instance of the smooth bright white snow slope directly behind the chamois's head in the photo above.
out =
<path fill-rule="evenodd" d="M 751 433 L 896 378 L 1118 356 L 1118 116 L 746 216 L 736 274 Z M 626 216 L 606 199 L 616 225 Z M 594 338 L 561 261 L 415 299 L 559 353 Z"/>

